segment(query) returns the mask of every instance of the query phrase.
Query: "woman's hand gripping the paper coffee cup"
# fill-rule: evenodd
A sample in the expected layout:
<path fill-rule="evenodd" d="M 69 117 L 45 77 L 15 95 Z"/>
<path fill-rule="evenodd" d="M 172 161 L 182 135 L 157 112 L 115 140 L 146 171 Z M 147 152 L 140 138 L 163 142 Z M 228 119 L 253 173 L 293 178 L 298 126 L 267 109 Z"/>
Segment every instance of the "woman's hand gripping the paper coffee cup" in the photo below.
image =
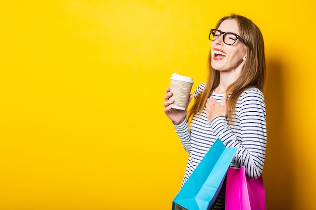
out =
<path fill-rule="evenodd" d="M 173 99 L 170 99 L 171 96 L 172 96 L 172 93 L 170 92 L 170 88 L 167 88 L 166 95 L 165 95 L 166 101 L 164 102 L 164 106 L 165 106 L 164 111 L 165 111 L 165 114 L 171 119 L 171 121 L 175 125 L 178 125 L 185 119 L 185 116 L 187 114 L 187 109 L 188 109 L 189 103 L 191 102 L 193 98 L 193 95 L 190 94 L 187 108 L 185 110 L 171 108 L 171 106 L 169 105 L 175 102 Z"/>

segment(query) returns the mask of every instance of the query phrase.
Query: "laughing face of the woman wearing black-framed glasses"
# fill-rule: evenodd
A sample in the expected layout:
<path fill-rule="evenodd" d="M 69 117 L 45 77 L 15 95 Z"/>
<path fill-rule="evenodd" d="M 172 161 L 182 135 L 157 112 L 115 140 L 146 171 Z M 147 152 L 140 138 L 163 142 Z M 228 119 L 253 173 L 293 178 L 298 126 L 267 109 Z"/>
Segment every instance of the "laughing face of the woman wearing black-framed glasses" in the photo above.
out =
<path fill-rule="evenodd" d="M 240 35 L 237 21 L 234 19 L 223 21 L 218 30 Z M 247 55 L 247 47 L 242 41 L 237 39 L 233 45 L 225 44 L 222 34 L 212 41 L 210 50 L 214 69 L 220 72 L 235 72 L 239 76 Z"/>

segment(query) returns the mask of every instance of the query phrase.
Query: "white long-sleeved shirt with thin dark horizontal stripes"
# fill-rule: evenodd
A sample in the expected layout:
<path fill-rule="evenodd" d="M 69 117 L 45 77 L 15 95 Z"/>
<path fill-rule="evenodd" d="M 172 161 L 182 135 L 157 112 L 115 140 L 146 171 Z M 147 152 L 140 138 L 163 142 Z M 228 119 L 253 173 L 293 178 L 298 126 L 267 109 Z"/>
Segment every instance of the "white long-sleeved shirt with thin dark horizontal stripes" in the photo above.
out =
<path fill-rule="evenodd" d="M 195 89 L 194 98 L 201 94 L 204 86 L 205 83 L 202 83 Z M 224 94 L 213 92 L 211 95 L 222 104 Z M 191 129 L 187 118 L 179 125 L 174 125 L 185 151 L 189 154 L 182 186 L 218 137 L 226 147 L 238 148 L 231 168 L 244 165 L 246 175 L 252 179 L 261 175 L 265 162 L 267 130 L 266 105 L 264 95 L 259 89 L 249 88 L 241 94 L 233 124 L 229 126 L 224 116 L 209 123 L 204 107 L 202 112 L 194 114 Z M 224 184 L 213 209 L 225 208 L 225 186 Z"/>

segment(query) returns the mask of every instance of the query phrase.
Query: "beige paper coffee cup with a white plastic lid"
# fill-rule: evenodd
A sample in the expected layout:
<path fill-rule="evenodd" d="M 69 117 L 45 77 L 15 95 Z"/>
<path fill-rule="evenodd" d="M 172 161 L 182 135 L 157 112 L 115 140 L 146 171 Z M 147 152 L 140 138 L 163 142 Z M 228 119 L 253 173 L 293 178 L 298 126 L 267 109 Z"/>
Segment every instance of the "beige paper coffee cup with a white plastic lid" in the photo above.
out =
<path fill-rule="evenodd" d="M 172 92 L 173 95 L 170 99 L 175 100 L 175 102 L 170 105 L 172 108 L 181 110 L 186 109 L 192 85 L 192 78 L 181 76 L 176 73 L 172 74 L 172 77 L 170 78 L 170 92 Z"/>

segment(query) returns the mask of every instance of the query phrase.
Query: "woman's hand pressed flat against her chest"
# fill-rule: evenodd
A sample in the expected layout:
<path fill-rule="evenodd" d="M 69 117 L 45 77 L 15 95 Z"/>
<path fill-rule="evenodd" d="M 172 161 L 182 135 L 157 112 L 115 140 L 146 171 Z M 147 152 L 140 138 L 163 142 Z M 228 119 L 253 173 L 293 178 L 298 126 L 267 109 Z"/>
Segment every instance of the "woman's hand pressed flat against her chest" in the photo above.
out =
<path fill-rule="evenodd" d="M 206 117 L 211 123 L 216 117 L 227 116 L 226 95 L 223 96 L 223 105 L 221 105 L 215 98 L 210 96 L 206 101 Z"/>

